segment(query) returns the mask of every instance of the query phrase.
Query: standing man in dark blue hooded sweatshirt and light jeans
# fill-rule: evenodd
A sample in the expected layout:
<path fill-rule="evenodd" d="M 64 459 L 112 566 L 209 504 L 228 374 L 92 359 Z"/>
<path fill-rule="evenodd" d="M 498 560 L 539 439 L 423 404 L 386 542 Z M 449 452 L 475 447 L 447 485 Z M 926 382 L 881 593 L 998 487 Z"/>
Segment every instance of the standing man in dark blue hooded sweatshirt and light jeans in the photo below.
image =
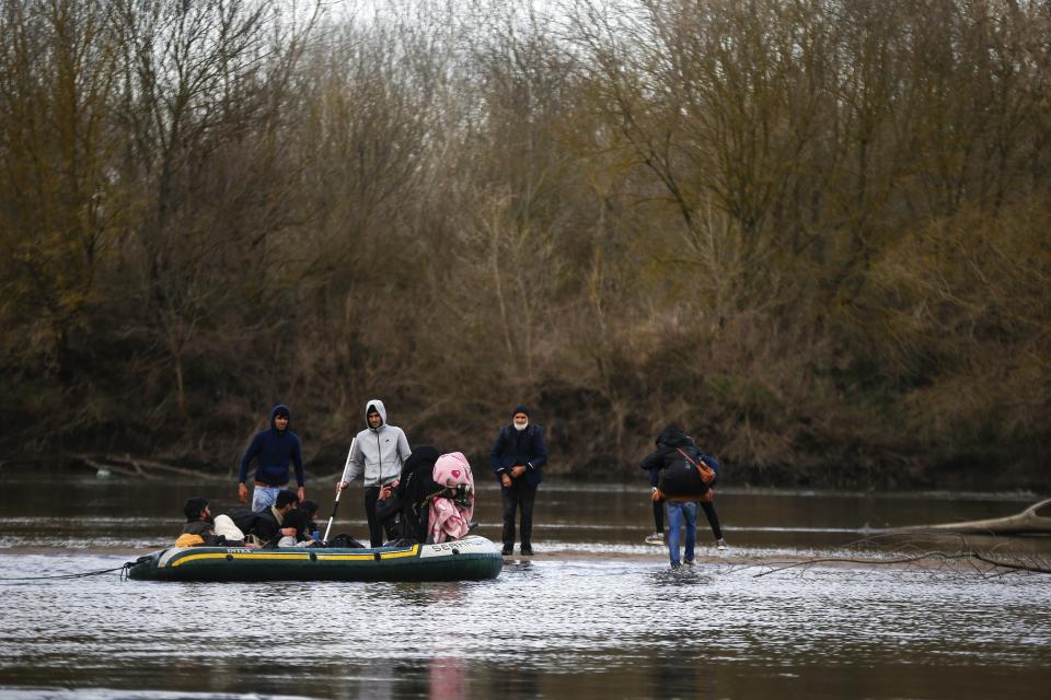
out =
<path fill-rule="evenodd" d="M 270 410 L 270 428 L 255 434 L 244 456 L 241 457 L 241 475 L 238 479 L 238 498 L 249 502 L 249 464 L 257 459 L 255 489 L 252 493 L 252 510 L 262 511 L 274 505 L 277 494 L 288 486 L 288 463 L 296 466 L 296 482 L 299 483 L 299 500 L 307 498 L 307 478 L 303 475 L 302 447 L 299 435 L 288 429 L 291 413 L 288 406 L 278 404 Z"/>

